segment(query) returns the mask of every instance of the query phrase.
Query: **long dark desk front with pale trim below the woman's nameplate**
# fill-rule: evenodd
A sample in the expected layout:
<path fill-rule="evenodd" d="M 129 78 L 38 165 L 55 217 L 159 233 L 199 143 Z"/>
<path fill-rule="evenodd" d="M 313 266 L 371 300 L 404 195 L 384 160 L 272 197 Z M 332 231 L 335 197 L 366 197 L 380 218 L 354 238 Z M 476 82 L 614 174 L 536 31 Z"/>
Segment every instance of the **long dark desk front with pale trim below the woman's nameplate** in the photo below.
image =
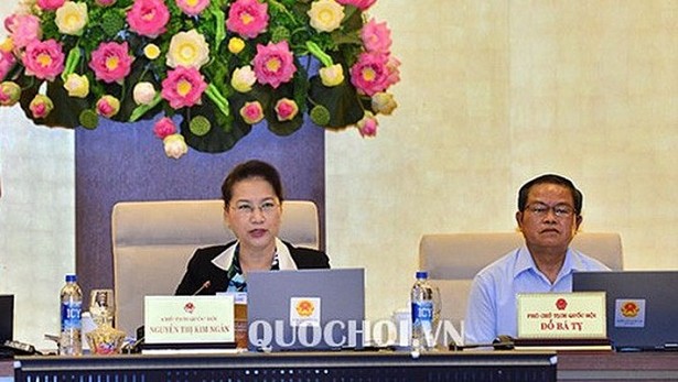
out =
<path fill-rule="evenodd" d="M 279 352 L 18 357 L 22 381 L 426 382 L 556 381 L 556 353 Z"/>

